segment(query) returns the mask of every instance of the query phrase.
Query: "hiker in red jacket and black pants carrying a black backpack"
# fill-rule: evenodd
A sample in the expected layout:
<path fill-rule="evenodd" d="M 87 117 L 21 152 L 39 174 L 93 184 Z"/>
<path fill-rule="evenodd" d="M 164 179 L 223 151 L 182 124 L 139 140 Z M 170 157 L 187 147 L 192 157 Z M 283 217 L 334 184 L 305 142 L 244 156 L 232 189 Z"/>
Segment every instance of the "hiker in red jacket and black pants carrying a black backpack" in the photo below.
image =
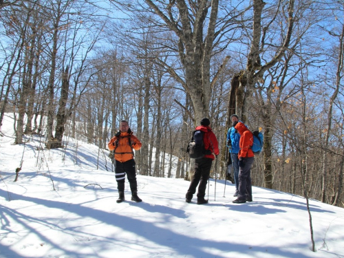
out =
<path fill-rule="evenodd" d="M 196 187 L 198 184 L 197 192 L 197 204 L 207 204 L 208 200 L 204 199 L 206 195 L 206 183 L 211 173 L 211 164 L 215 160 L 215 155 L 219 155 L 219 144 L 213 131 L 211 130 L 211 121 L 208 118 L 201 120 L 201 125 L 196 127 L 196 130 L 204 131 L 203 142 L 204 149 L 208 151 L 208 154 L 202 158 L 195 159 L 195 173 L 191 180 L 188 191 L 186 192 L 185 202 L 190 203 L 193 195 L 196 193 Z"/>

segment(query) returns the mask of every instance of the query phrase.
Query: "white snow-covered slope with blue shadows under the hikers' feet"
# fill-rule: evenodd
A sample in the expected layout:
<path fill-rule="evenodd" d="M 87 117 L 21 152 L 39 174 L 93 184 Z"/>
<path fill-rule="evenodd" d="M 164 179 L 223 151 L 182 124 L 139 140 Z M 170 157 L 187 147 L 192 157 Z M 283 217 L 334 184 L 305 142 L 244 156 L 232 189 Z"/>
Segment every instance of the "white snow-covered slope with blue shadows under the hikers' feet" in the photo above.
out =
<path fill-rule="evenodd" d="M 1 258 L 344 257 L 343 208 L 310 200 L 312 252 L 305 199 L 289 193 L 253 187 L 253 202 L 233 204 L 235 186 L 211 180 L 209 203 L 188 204 L 189 182 L 138 175 L 143 202 L 130 201 L 126 180 L 117 204 L 96 146 L 69 138 L 67 149 L 43 151 L 38 136 L 13 145 L 12 122 L 0 137 Z"/>

